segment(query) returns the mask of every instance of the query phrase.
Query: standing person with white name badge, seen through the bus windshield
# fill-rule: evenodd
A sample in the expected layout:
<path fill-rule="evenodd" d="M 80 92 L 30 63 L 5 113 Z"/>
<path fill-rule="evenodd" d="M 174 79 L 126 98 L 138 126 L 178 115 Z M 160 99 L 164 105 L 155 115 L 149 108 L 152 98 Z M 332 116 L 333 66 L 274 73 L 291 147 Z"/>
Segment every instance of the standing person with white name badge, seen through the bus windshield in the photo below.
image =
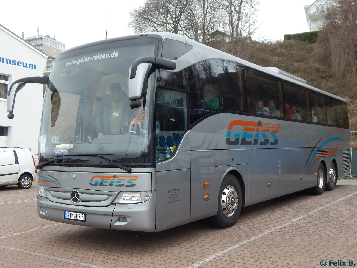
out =
<path fill-rule="evenodd" d="M 98 137 L 120 134 L 124 123 L 129 121 L 129 100 L 119 83 L 112 83 L 108 98 L 102 98 L 96 116 Z"/>

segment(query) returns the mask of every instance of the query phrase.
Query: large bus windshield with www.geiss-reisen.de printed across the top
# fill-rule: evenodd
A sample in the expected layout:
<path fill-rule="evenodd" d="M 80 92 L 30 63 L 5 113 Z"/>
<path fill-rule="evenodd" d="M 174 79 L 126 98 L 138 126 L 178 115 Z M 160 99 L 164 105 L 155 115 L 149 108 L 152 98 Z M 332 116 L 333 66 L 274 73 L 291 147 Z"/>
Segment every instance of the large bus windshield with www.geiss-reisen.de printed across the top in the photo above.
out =
<path fill-rule="evenodd" d="M 157 48 L 155 38 L 129 39 L 59 55 L 44 95 L 40 163 L 150 165 L 153 75 L 136 109 L 127 83 L 133 61 Z"/>

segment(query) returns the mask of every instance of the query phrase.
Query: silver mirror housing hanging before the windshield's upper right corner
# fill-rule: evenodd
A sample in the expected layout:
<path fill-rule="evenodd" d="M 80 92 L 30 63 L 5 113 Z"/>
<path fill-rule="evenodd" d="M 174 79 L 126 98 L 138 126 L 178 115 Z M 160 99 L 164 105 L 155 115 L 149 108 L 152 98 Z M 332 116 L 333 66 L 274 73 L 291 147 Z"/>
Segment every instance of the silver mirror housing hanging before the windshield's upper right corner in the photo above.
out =
<path fill-rule="evenodd" d="M 136 73 L 134 78 L 130 78 L 131 68 L 129 68 L 129 78 L 128 78 L 128 97 L 130 100 L 130 107 L 132 109 L 141 106 L 141 99 L 144 95 L 144 88 L 146 86 L 147 78 L 149 76 L 152 64 L 151 63 L 141 63 L 136 68 Z"/>

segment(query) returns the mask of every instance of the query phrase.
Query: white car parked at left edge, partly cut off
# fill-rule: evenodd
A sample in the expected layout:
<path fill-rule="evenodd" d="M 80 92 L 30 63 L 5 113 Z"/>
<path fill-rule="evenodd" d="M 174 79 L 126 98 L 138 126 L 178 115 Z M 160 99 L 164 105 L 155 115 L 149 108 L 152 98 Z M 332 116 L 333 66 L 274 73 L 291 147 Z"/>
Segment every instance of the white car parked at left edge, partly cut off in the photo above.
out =
<path fill-rule="evenodd" d="M 28 189 L 37 178 L 35 161 L 27 149 L 0 148 L 0 187 L 16 185 Z"/>

